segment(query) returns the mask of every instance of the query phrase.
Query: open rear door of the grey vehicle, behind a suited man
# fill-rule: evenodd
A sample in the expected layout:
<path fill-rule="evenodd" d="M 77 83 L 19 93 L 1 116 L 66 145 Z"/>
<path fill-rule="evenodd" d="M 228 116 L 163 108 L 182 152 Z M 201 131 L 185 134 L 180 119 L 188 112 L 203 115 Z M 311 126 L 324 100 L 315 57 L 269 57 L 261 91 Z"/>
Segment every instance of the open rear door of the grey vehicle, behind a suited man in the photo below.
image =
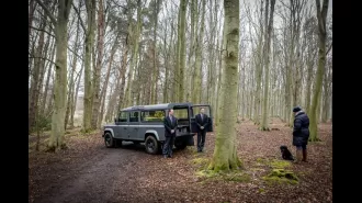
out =
<path fill-rule="evenodd" d="M 197 133 L 197 124 L 195 121 L 195 115 L 199 114 L 201 109 L 205 109 L 205 114 L 208 116 L 208 125 L 206 132 L 213 132 L 213 113 L 212 108 L 208 104 L 193 104 L 190 106 L 190 122 L 191 122 L 191 132 Z"/>

